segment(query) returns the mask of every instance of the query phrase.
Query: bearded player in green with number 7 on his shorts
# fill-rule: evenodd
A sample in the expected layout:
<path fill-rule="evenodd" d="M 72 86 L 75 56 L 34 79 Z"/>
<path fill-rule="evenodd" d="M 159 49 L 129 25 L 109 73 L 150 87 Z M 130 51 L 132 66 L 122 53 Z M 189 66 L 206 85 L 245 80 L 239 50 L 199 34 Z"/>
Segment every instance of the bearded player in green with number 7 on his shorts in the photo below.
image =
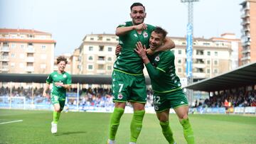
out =
<path fill-rule="evenodd" d="M 136 43 L 140 41 L 143 45 L 149 45 L 149 38 L 154 26 L 144 23 L 146 18 L 145 7 L 140 3 L 134 3 L 130 7 L 132 21 L 119 25 L 116 35 L 119 36 L 119 52 L 114 62 L 112 72 L 112 90 L 114 95 L 114 112 L 110 118 L 110 135 L 107 143 L 115 143 L 115 135 L 119 126 L 120 118 L 124 113 L 126 102 L 131 102 L 134 115 L 130 125 L 130 143 L 136 143 L 142 130 L 144 118 L 144 106 L 146 103 L 146 84 L 143 74 L 142 59 L 134 52 Z M 158 50 L 174 48 L 174 43 L 166 38 L 164 45 Z"/>

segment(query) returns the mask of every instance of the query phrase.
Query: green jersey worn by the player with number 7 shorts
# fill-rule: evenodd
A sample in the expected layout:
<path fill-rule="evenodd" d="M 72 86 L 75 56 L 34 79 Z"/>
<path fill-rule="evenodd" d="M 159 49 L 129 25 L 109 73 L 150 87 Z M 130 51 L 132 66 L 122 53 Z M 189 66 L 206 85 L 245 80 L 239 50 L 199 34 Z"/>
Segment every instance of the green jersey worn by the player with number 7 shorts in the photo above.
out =
<path fill-rule="evenodd" d="M 125 22 L 118 27 L 133 26 L 132 21 Z M 117 56 L 117 60 L 114 62 L 114 69 L 122 72 L 128 72 L 132 74 L 143 73 L 142 59 L 134 52 L 137 42 L 141 42 L 142 45 L 146 45 L 149 48 L 149 38 L 151 32 L 155 27 L 147 24 L 147 29 L 139 34 L 136 30 L 129 31 L 125 35 L 119 36 L 119 45 L 122 45 L 122 51 Z"/>

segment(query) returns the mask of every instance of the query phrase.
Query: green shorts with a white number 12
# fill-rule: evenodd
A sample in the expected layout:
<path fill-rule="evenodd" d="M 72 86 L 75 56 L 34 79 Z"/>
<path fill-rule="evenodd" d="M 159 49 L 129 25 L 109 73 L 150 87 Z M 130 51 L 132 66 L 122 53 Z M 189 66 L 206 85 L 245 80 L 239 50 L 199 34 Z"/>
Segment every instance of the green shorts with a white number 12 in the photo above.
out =
<path fill-rule="evenodd" d="M 188 106 L 188 99 L 182 90 L 169 93 L 154 92 L 153 99 L 156 113 L 166 111 L 166 109 L 176 109 L 180 106 Z"/>

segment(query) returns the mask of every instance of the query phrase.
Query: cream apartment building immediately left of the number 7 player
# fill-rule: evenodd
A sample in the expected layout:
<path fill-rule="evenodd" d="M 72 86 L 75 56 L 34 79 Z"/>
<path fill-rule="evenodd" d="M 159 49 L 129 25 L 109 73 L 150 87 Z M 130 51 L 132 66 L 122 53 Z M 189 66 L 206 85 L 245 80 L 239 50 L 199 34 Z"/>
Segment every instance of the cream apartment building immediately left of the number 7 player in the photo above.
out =
<path fill-rule="evenodd" d="M 79 48 L 79 74 L 112 74 L 117 43 L 114 34 L 85 35 Z"/>

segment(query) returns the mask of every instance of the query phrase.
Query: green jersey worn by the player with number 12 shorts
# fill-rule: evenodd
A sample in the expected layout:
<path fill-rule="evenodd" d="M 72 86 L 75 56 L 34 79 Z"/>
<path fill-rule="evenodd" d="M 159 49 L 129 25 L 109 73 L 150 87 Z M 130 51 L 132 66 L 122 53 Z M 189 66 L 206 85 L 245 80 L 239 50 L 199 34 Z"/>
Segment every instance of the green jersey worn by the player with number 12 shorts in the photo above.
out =
<path fill-rule="evenodd" d="M 146 65 L 152 89 L 156 93 L 176 92 L 181 89 L 181 82 L 175 73 L 174 53 L 171 50 L 157 52 L 149 57 Z"/>

